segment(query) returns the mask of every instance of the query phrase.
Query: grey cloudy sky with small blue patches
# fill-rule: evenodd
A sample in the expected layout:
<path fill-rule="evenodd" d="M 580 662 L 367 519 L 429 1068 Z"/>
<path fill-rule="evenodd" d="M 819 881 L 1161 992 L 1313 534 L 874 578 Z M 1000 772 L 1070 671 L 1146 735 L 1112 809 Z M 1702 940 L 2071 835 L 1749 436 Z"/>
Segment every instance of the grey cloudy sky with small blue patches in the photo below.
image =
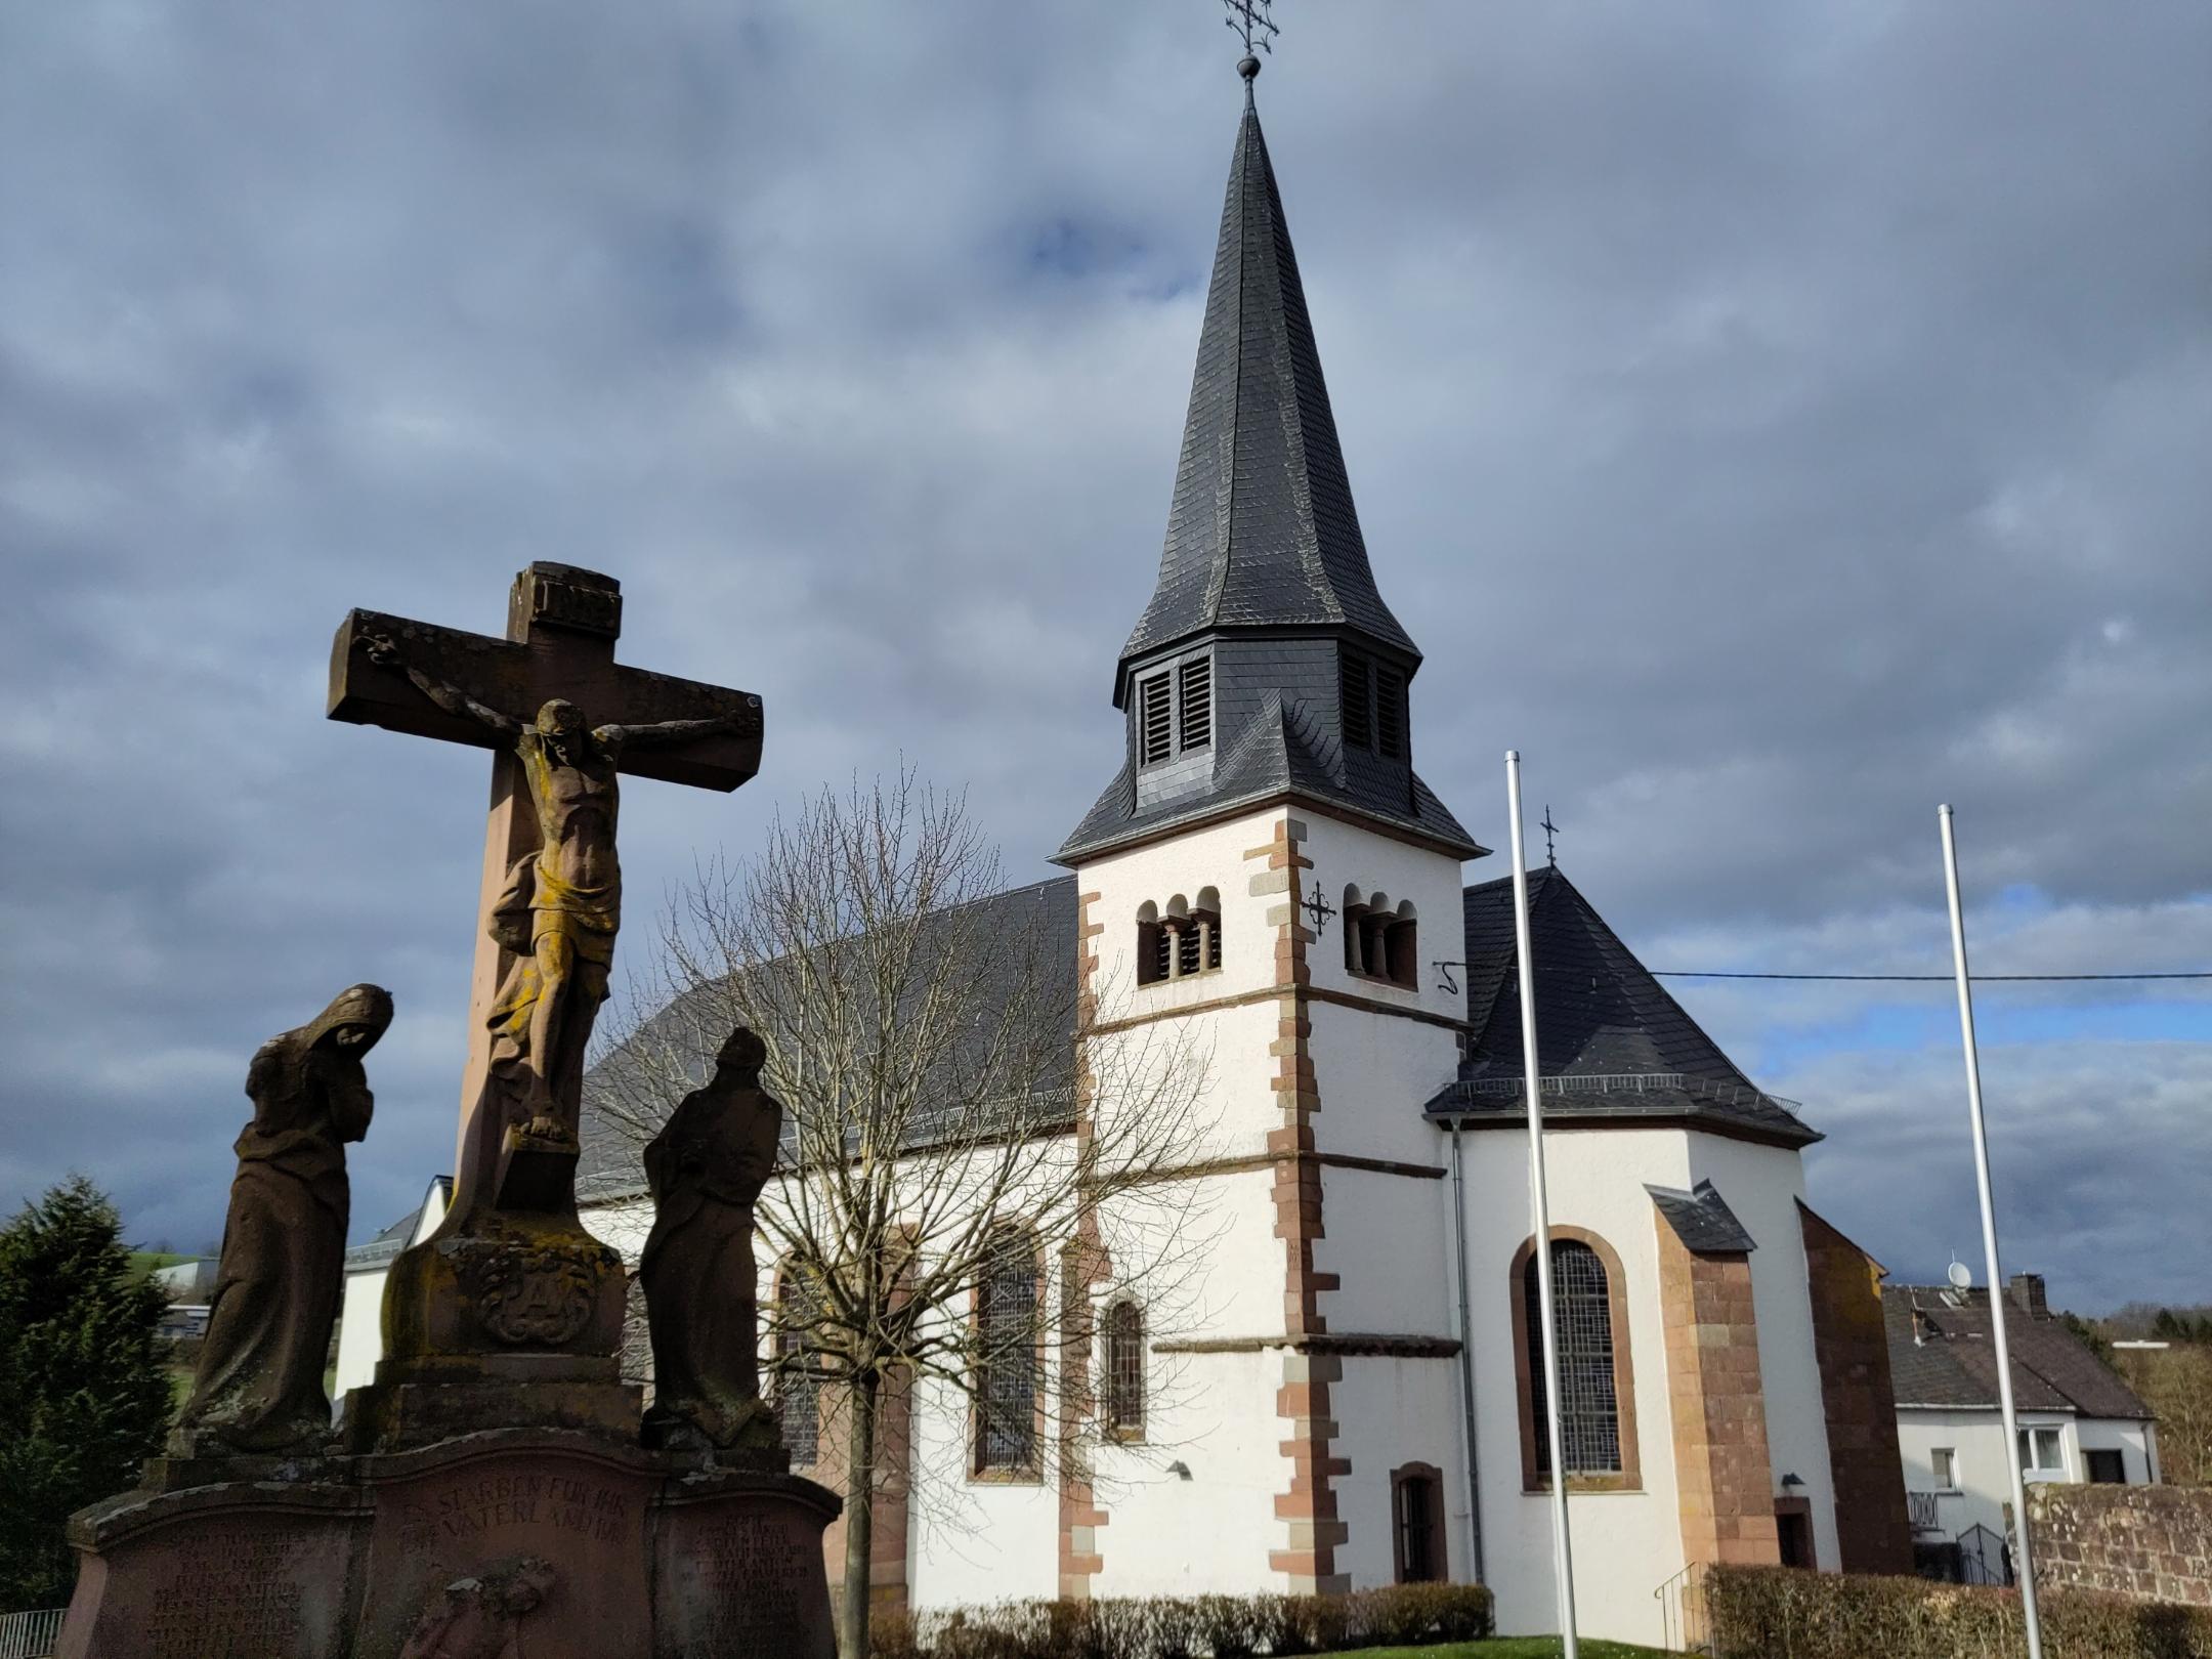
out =
<path fill-rule="evenodd" d="M 1261 113 L 1429 781 L 1659 969 L 2212 969 L 2212 9 L 1285 0 Z M 898 765 L 1009 878 L 1113 772 L 1234 135 L 1212 0 L 0 20 L 0 1206 L 221 1228 L 246 1057 L 400 1018 L 449 1164 L 484 754 L 321 719 L 529 560 L 768 699 L 699 852 Z M 1495 874 L 1502 860 L 1475 867 Z M 1975 1252 L 1942 984 L 1677 982 L 1898 1274 Z M 2212 987 L 1989 987 L 2011 1265 L 2212 1298 Z"/>

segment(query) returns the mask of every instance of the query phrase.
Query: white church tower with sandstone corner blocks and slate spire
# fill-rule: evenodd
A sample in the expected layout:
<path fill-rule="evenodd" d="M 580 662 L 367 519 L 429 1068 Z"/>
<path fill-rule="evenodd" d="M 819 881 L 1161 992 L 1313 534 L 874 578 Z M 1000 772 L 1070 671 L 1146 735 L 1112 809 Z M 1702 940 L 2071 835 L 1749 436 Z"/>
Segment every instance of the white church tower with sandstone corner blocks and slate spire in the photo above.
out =
<path fill-rule="evenodd" d="M 1206 1055 L 1190 1179 L 1219 1239 L 1201 1327 L 1150 1343 L 1181 1380 L 1146 1436 L 1203 1447 L 1206 1491 L 1150 1478 L 1177 1453 L 1102 1449 L 1119 1495 L 1062 1493 L 1064 1595 L 1387 1584 L 1398 1425 L 1458 1420 L 1442 1283 L 1405 1270 L 1447 1237 L 1407 1102 L 1458 1066 L 1464 1006 L 1431 962 L 1460 956 L 1484 849 L 1413 770 L 1420 648 L 1367 562 L 1239 69 L 1159 584 L 1115 670 L 1124 759 L 1055 854 L 1108 1029 L 1172 1024 Z"/>

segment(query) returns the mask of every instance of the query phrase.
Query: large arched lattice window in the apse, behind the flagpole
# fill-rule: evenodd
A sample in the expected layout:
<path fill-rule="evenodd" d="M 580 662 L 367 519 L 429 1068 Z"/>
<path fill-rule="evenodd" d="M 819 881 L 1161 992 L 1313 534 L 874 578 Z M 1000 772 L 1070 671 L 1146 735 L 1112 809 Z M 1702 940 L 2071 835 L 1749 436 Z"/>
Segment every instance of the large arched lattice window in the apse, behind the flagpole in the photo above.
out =
<path fill-rule="evenodd" d="M 1513 1261 L 1513 1358 L 1522 1405 L 1522 1475 L 1528 1491 L 1551 1486 L 1551 1429 L 1544 1405 L 1544 1303 L 1535 1241 Z M 1551 1241 L 1553 1332 L 1559 1347 L 1559 1444 L 1568 1486 L 1639 1484 L 1635 1369 L 1628 1363 L 1628 1305 L 1621 1263 L 1604 1239 L 1555 1228 Z"/>

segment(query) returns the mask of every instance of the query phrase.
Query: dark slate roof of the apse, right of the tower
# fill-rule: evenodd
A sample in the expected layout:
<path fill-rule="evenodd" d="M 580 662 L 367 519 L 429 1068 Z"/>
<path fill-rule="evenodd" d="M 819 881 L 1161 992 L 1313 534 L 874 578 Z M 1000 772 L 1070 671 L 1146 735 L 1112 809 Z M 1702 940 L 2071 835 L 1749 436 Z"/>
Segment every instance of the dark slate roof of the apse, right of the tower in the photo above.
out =
<path fill-rule="evenodd" d="M 1431 1117 L 1520 1117 L 1522 1037 L 1513 945 L 1513 878 L 1462 894 L 1467 1020 L 1460 1077 Z M 1705 1035 L 1557 869 L 1528 872 L 1528 936 L 1542 995 L 1537 1055 L 1555 1117 L 1688 1117 L 1781 1146 L 1820 1139 Z"/>

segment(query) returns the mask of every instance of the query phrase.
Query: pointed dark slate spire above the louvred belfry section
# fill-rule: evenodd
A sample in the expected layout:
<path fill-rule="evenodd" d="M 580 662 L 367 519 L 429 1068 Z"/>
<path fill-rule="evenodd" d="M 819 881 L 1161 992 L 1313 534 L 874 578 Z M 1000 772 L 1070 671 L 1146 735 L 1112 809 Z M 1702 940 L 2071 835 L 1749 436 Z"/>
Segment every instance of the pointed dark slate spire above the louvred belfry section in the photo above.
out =
<path fill-rule="evenodd" d="M 1305 314 L 1267 139 L 1252 100 L 1230 157 L 1221 241 L 1183 420 L 1159 586 L 1121 648 L 1133 659 L 1217 628 L 1343 628 L 1420 653 L 1383 604 L 1352 504 L 1329 387 Z"/>

